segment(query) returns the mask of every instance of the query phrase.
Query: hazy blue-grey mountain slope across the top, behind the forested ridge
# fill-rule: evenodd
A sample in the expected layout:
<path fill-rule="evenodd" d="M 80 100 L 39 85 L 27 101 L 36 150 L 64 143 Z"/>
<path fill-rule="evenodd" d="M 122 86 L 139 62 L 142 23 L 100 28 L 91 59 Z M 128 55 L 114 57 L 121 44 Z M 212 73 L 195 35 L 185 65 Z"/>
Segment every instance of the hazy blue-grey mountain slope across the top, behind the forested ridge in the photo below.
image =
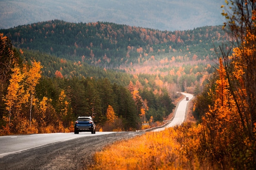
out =
<path fill-rule="evenodd" d="M 1 0 L 0 28 L 47 20 L 114 22 L 159 30 L 223 23 L 224 0 Z"/>

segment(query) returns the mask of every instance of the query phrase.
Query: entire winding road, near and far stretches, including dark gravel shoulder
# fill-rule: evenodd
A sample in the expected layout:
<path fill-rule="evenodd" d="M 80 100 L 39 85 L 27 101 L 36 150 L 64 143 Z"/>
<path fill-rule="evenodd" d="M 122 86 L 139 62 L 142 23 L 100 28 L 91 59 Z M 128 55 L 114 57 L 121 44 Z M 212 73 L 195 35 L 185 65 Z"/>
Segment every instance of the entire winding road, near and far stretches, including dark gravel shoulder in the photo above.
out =
<path fill-rule="evenodd" d="M 193 98 L 193 95 L 182 93 Z M 171 122 L 164 128 L 182 124 L 188 102 L 182 99 Z M 164 128 L 154 129 L 157 132 Z M 152 130 L 150 130 L 152 131 Z M 77 170 L 93 163 L 93 155 L 103 147 L 121 139 L 129 139 L 144 132 L 82 132 L 11 135 L 0 137 L 1 170 Z M 86 156 L 85 156 L 86 155 Z M 86 162 L 86 163 L 85 163 Z"/>

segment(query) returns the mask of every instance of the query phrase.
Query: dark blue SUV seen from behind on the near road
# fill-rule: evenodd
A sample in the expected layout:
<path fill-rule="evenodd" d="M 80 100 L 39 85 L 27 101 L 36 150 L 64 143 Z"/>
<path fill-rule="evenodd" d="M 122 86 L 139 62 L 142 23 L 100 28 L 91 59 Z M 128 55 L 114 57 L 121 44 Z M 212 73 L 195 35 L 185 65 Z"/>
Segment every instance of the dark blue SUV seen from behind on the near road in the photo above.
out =
<path fill-rule="evenodd" d="M 92 132 L 92 134 L 95 134 L 95 128 L 96 125 L 91 116 L 79 116 L 74 126 L 74 133 Z"/>

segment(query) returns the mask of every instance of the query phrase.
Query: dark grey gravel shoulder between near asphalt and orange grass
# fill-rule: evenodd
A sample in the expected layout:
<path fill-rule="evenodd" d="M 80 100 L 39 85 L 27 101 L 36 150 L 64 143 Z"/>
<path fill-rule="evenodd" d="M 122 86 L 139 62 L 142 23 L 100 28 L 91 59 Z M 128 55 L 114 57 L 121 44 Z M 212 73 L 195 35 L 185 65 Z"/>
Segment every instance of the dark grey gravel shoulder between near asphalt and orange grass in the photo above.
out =
<path fill-rule="evenodd" d="M 92 165 L 95 152 L 144 133 L 116 132 L 32 148 L 0 158 L 0 170 L 86 170 Z"/>

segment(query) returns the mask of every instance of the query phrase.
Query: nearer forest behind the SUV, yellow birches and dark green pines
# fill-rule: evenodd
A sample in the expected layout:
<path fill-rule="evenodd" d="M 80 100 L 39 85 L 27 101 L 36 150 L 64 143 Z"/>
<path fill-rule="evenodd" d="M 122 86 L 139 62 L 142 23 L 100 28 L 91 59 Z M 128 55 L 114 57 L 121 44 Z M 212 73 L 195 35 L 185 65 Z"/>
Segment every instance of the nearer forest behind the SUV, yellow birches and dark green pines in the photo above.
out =
<path fill-rule="evenodd" d="M 1 49 L 1 134 L 69 132 L 79 115 L 94 117 L 97 130 L 136 130 L 141 122 L 162 121 L 175 108 L 166 90 L 153 92 L 153 79 L 143 86 L 124 72 L 17 51 L 2 33 Z M 42 76 L 40 61 L 46 74 L 61 65 L 79 75 L 63 77 L 60 69 L 54 77 Z"/>

